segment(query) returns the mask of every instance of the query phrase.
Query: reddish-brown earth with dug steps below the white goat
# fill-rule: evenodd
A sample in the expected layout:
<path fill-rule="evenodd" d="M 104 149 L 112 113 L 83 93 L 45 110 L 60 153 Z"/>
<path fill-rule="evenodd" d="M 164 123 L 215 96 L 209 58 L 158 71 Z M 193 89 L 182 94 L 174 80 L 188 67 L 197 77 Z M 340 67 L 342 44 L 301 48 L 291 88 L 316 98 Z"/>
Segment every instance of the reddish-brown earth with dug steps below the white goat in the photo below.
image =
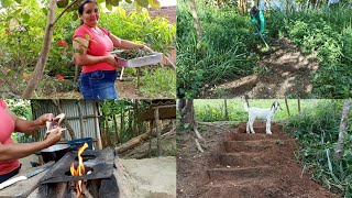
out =
<path fill-rule="evenodd" d="M 177 157 L 177 197 L 272 198 L 338 197 L 311 179 L 295 162 L 295 140 L 272 124 L 254 124 L 255 134 L 245 133 L 245 123 L 232 130 L 206 127 L 206 152 L 198 154 L 191 134 L 180 135 Z"/>

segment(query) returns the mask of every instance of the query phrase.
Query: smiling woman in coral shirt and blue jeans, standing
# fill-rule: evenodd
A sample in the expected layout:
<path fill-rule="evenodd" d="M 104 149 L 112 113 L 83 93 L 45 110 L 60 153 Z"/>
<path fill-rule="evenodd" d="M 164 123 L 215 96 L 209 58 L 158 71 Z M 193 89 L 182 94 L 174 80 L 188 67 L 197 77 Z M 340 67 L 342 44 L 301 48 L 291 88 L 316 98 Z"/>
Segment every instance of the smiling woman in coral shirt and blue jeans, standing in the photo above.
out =
<path fill-rule="evenodd" d="M 76 65 L 82 66 L 79 88 L 85 99 L 118 99 L 114 86 L 117 68 L 121 67 L 110 54 L 113 47 L 141 48 L 153 52 L 145 45 L 120 40 L 107 29 L 99 28 L 98 4 L 94 0 L 85 0 L 78 8 L 82 24 L 73 35 Z"/>

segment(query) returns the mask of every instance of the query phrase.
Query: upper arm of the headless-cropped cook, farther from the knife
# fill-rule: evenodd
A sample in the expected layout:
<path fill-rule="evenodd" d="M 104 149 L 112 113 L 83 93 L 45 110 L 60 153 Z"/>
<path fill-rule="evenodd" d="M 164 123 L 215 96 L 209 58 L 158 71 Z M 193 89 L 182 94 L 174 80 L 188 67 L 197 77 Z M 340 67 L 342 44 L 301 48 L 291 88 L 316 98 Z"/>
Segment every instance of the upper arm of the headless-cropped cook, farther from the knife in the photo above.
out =
<path fill-rule="evenodd" d="M 38 128 L 44 128 L 46 121 L 51 121 L 54 118 L 53 113 L 46 113 L 41 116 L 34 121 L 28 121 L 19 118 L 16 114 L 14 114 L 9 108 L 6 109 L 6 111 L 10 114 L 10 117 L 13 120 L 14 123 L 14 131 L 18 132 L 33 132 L 34 130 Z"/>

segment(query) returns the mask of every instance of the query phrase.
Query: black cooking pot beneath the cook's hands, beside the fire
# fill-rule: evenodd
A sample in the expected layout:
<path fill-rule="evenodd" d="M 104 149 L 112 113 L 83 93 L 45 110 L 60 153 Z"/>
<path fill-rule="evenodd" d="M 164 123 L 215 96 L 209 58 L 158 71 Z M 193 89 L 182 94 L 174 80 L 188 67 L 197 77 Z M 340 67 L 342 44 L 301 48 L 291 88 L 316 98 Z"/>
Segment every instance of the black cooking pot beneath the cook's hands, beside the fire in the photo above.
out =
<path fill-rule="evenodd" d="M 38 155 L 43 156 L 43 161 L 45 163 L 50 161 L 59 161 L 66 153 L 68 153 L 69 144 L 55 144 L 50 147 L 46 147 L 45 150 L 42 150 L 38 152 Z"/>

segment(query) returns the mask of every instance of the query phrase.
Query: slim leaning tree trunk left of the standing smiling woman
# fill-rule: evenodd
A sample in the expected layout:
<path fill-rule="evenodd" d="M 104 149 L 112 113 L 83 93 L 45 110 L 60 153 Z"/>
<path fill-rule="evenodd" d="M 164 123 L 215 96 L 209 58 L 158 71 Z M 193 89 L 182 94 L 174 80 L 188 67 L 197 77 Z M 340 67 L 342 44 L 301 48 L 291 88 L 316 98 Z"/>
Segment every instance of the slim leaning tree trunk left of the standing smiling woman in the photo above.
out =
<path fill-rule="evenodd" d="M 51 0 L 48 6 L 44 43 L 41 50 L 38 61 L 35 65 L 34 73 L 32 75 L 30 82 L 28 84 L 28 86 L 25 87 L 22 94 L 22 98 L 26 98 L 26 99 L 32 98 L 34 89 L 36 88 L 37 84 L 43 77 L 43 73 L 45 69 L 45 65 L 48 58 L 48 53 L 50 53 L 52 40 L 53 40 L 55 10 L 56 10 L 56 0 Z"/>

